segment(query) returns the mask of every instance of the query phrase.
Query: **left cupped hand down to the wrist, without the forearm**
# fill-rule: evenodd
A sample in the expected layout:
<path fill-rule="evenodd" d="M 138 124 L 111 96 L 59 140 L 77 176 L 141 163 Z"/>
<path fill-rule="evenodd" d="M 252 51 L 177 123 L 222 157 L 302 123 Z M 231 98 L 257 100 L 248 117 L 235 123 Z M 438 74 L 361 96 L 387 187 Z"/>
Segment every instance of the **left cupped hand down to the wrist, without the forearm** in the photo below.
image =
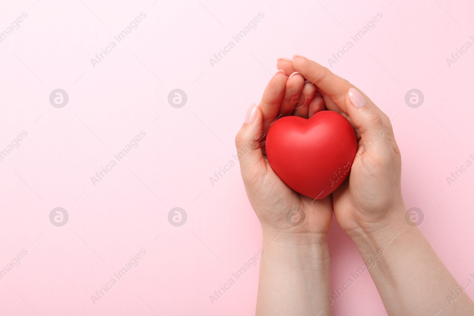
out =
<path fill-rule="evenodd" d="M 313 200 L 290 189 L 273 172 L 265 156 L 265 136 L 279 117 L 308 114 L 324 108 L 316 87 L 299 73 L 278 71 L 264 90 L 258 106 L 247 110 L 245 122 L 236 136 L 237 155 L 250 204 L 265 231 L 319 236 L 328 234 L 332 218 L 330 196 Z M 305 98 L 299 96 L 304 92 Z M 319 238 L 319 237 L 318 237 Z"/>

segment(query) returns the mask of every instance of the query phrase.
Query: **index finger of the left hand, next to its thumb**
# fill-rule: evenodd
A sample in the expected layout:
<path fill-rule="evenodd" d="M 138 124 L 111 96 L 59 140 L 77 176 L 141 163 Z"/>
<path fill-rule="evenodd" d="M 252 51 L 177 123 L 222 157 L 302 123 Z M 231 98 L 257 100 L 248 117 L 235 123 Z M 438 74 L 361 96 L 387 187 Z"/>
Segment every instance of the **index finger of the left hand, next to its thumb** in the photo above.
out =
<path fill-rule="evenodd" d="M 266 134 L 268 128 L 278 116 L 280 104 L 282 103 L 283 94 L 286 88 L 287 78 L 283 70 L 279 70 L 268 82 L 262 100 L 258 107 L 262 110 L 263 131 Z"/>

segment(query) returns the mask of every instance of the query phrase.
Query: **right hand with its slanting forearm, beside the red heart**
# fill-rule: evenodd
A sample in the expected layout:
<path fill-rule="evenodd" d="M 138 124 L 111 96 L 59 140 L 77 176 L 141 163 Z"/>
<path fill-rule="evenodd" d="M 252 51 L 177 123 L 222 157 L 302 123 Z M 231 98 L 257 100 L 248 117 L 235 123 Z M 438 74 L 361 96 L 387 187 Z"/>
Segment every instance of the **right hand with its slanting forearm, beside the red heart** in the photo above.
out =
<path fill-rule="evenodd" d="M 326 108 L 342 111 L 354 126 L 359 150 L 349 177 L 332 193 L 334 214 L 367 262 L 388 315 L 474 315 L 472 300 L 425 236 L 405 222 L 401 157 L 389 118 L 350 82 L 305 57 L 278 67 L 299 71 Z"/>

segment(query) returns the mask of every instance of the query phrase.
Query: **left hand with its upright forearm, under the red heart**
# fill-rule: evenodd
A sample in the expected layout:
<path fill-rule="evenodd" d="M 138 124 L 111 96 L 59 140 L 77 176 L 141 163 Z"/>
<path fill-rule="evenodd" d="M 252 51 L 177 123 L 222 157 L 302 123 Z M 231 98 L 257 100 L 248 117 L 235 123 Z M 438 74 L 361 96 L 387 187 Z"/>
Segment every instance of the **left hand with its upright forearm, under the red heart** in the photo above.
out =
<path fill-rule="evenodd" d="M 313 98 L 314 85 L 299 73 L 289 77 L 283 71 L 273 76 L 236 136 L 242 179 L 263 231 L 256 315 L 328 316 L 331 197 L 313 200 L 293 191 L 264 156 L 265 135 L 278 117 L 308 118 L 308 112 L 323 106 L 319 95 Z"/>

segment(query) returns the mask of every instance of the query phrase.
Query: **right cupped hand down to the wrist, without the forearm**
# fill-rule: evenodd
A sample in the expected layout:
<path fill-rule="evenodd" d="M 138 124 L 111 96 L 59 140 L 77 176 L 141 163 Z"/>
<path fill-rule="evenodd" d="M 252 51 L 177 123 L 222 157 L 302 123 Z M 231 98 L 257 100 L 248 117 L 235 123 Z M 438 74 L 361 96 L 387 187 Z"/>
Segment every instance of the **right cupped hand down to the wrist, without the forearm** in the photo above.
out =
<path fill-rule="evenodd" d="M 279 59 L 278 69 L 298 71 L 317 88 L 328 110 L 347 117 L 358 151 L 346 181 L 332 193 L 334 214 L 349 234 L 370 233 L 403 218 L 401 156 L 390 119 L 349 81 L 303 56 Z"/>

